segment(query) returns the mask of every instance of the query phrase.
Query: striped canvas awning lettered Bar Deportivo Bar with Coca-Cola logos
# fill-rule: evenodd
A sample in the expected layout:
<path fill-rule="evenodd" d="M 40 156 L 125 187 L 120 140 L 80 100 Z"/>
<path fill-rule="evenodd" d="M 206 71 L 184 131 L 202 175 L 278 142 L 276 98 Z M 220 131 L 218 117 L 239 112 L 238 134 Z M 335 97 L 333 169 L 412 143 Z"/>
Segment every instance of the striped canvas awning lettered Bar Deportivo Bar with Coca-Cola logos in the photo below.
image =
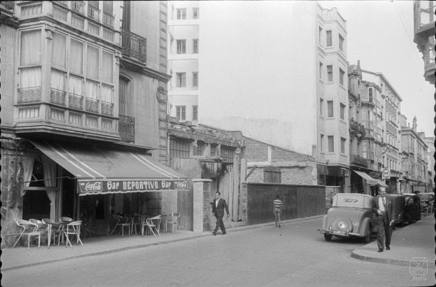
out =
<path fill-rule="evenodd" d="M 188 190 L 188 176 L 153 160 L 144 151 L 30 140 L 78 178 L 80 195 Z"/>

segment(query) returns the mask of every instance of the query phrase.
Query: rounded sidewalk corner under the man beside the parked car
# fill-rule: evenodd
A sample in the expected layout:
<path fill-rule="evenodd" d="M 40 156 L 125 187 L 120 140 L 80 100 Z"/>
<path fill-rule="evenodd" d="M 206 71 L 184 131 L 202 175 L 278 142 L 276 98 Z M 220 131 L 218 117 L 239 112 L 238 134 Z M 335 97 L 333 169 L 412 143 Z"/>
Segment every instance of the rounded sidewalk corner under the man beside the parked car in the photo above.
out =
<path fill-rule="evenodd" d="M 377 252 L 377 241 L 352 251 L 352 257 L 377 263 L 410 266 L 411 263 L 428 260 L 435 262 L 435 214 L 421 217 L 420 221 L 394 230 L 390 250 Z M 421 257 L 422 259 L 414 259 Z M 424 259 L 425 258 L 425 259 Z M 432 267 L 433 268 L 433 267 Z"/>

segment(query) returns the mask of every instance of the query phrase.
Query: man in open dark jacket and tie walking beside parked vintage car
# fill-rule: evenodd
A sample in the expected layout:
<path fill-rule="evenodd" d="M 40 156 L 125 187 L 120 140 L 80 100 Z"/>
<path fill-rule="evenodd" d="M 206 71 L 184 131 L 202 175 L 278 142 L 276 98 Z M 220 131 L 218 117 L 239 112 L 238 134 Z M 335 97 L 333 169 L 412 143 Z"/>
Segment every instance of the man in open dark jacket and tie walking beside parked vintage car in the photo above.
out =
<path fill-rule="evenodd" d="M 383 252 L 383 247 L 390 250 L 390 237 L 392 236 L 392 224 L 394 224 L 394 209 L 392 200 L 386 198 L 385 187 L 380 187 L 379 195 L 372 199 L 372 208 L 377 216 L 377 246 L 379 252 Z M 384 241 L 384 244 L 383 244 Z"/>

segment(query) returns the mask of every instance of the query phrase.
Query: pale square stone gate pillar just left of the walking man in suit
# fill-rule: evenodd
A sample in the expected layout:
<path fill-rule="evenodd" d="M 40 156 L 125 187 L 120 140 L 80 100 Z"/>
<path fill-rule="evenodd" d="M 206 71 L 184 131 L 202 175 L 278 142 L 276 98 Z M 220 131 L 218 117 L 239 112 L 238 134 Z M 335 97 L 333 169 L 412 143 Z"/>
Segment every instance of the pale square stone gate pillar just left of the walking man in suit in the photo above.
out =
<path fill-rule="evenodd" d="M 210 230 L 209 218 L 210 212 L 210 179 L 193 179 L 193 218 L 192 231 L 203 232 Z"/>

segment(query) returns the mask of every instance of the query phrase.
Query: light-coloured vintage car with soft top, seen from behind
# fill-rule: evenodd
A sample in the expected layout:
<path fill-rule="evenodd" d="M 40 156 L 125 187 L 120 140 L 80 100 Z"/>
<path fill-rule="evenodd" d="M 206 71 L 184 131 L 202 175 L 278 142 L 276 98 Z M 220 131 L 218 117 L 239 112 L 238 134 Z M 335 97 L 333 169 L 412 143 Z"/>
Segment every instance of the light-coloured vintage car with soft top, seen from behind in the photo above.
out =
<path fill-rule="evenodd" d="M 370 242 L 376 232 L 376 215 L 372 211 L 372 196 L 367 194 L 336 194 L 327 214 L 323 217 L 324 239 L 332 236 L 361 238 Z"/>

